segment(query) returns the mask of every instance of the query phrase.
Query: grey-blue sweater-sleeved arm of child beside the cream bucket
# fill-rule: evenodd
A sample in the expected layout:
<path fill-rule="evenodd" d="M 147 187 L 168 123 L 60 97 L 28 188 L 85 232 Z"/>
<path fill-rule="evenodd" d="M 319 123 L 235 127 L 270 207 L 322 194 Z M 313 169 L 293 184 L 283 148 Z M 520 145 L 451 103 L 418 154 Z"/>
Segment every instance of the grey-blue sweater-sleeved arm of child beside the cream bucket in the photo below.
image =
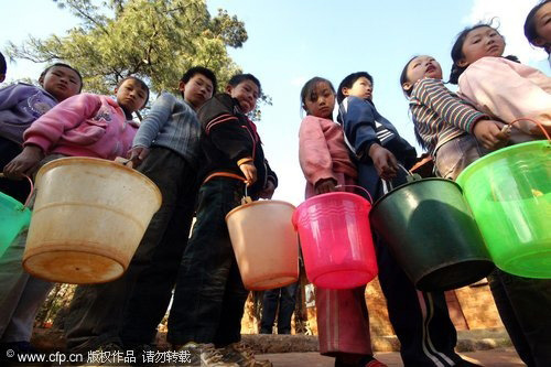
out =
<path fill-rule="evenodd" d="M 129 152 L 129 158 L 134 165 L 139 165 L 148 156 L 151 142 L 169 121 L 175 104 L 176 98 L 173 95 L 163 93 L 151 106 L 150 112 L 140 123 L 132 142 L 132 149 Z"/>

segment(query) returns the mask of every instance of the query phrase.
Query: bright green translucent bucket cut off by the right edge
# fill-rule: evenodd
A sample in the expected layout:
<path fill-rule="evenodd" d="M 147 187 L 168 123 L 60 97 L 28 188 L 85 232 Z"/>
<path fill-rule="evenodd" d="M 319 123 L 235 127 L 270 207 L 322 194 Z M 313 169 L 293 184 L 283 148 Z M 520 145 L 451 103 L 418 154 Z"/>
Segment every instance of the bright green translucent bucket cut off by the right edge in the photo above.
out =
<path fill-rule="evenodd" d="M 551 142 L 490 153 L 457 177 L 498 268 L 551 279 Z"/>

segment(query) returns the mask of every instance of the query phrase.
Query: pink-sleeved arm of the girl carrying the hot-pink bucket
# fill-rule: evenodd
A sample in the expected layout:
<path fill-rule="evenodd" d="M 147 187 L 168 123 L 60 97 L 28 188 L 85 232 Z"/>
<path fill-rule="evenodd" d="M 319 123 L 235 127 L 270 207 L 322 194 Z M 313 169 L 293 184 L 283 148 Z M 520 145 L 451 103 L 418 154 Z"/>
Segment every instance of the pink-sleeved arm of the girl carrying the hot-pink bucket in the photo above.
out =
<path fill-rule="evenodd" d="M 306 116 L 299 130 L 299 161 L 307 182 L 321 193 L 334 191 L 333 160 L 320 123 L 320 118 Z"/>

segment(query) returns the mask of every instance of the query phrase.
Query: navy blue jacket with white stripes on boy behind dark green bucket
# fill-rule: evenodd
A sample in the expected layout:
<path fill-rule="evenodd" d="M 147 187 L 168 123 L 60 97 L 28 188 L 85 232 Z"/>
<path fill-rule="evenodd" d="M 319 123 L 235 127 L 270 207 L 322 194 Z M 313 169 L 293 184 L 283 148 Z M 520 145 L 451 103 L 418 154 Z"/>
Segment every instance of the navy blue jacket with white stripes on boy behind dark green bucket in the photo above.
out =
<path fill-rule="evenodd" d="M 345 142 L 358 165 L 358 183 L 377 199 L 382 195 L 382 183 L 368 154 L 371 144 L 388 149 L 408 170 L 415 163 L 415 148 L 400 137 L 396 127 L 379 115 L 371 101 L 346 97 L 338 107 Z"/>

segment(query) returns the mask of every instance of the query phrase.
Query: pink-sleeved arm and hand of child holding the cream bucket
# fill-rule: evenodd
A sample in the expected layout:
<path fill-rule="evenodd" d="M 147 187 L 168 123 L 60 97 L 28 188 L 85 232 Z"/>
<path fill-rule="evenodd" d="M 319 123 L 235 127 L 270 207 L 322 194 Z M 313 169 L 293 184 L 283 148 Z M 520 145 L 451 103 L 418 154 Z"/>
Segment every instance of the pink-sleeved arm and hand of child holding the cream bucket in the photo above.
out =
<path fill-rule="evenodd" d="M 57 143 L 63 133 L 74 129 L 100 107 L 95 95 L 80 94 L 69 97 L 41 116 L 24 132 L 24 149 L 4 166 L 4 174 L 21 179 L 33 171 L 40 160 Z"/>

